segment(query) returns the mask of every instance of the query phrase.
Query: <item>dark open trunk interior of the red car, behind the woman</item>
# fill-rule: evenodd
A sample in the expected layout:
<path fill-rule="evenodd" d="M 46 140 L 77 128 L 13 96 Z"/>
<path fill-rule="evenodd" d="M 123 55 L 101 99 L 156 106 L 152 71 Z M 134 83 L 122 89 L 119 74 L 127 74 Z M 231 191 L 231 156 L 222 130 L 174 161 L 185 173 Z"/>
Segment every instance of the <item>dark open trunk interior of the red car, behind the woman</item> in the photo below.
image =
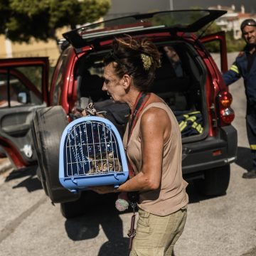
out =
<path fill-rule="evenodd" d="M 151 92 L 161 97 L 173 110 L 181 128 L 183 142 L 203 139 L 208 134 L 206 115 L 206 70 L 196 50 L 185 41 L 171 41 L 157 44 L 161 53 L 161 67 Z M 174 59 L 168 57 L 172 51 Z M 98 111 L 107 111 L 109 118 L 121 135 L 129 116 L 127 105 L 117 104 L 102 91 L 103 63 L 106 52 L 84 55 L 78 61 L 78 105 L 85 107 L 88 98 Z"/>

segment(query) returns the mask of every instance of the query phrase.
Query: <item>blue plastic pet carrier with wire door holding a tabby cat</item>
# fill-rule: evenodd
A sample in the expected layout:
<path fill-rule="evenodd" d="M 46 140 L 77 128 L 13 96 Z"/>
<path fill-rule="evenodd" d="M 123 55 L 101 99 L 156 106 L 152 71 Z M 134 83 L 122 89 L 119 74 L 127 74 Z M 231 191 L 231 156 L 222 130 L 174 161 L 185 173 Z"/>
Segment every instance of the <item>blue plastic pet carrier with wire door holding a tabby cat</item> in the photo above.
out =
<path fill-rule="evenodd" d="M 108 119 L 81 117 L 70 122 L 60 141 L 60 183 L 77 192 L 90 186 L 118 187 L 128 178 L 122 139 Z"/>

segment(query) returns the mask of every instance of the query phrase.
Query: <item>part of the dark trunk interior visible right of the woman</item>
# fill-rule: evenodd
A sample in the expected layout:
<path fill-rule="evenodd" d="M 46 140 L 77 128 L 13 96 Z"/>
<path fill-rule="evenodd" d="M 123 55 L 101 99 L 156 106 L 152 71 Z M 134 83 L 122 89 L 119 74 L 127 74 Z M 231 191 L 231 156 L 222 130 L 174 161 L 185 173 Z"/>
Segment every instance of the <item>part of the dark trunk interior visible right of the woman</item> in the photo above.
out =
<path fill-rule="evenodd" d="M 183 142 L 203 139 L 208 134 L 203 61 L 185 41 L 161 43 L 158 47 L 162 56 L 161 67 L 156 70 L 152 92 L 174 112 Z"/>

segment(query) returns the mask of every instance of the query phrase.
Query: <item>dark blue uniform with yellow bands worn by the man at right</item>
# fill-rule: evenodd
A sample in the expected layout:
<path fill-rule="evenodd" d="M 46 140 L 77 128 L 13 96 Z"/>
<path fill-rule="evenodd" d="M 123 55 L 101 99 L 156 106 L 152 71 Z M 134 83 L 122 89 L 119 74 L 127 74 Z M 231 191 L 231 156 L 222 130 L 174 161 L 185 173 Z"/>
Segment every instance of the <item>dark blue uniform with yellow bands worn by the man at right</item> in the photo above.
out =
<path fill-rule="evenodd" d="M 245 47 L 235 59 L 230 70 L 223 74 L 226 85 L 230 85 L 241 77 L 244 79 L 247 98 L 247 137 L 252 151 L 253 169 L 256 170 L 256 50 L 250 54 Z"/>

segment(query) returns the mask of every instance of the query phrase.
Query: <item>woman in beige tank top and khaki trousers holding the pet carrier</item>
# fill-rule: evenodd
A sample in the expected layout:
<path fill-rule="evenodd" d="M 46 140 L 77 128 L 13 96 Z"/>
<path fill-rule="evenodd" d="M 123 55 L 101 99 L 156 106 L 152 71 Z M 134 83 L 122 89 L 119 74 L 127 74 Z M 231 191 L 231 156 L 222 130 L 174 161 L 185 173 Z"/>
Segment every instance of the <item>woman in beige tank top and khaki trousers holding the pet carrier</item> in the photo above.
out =
<path fill-rule="evenodd" d="M 160 65 L 156 46 L 131 37 L 115 39 L 105 58 L 102 90 L 129 105 L 124 148 L 131 166 L 119 188 L 94 187 L 97 193 L 139 191 L 139 220 L 130 255 L 171 255 L 186 223 L 186 181 L 181 172 L 181 133 L 169 107 L 148 93 Z"/>

